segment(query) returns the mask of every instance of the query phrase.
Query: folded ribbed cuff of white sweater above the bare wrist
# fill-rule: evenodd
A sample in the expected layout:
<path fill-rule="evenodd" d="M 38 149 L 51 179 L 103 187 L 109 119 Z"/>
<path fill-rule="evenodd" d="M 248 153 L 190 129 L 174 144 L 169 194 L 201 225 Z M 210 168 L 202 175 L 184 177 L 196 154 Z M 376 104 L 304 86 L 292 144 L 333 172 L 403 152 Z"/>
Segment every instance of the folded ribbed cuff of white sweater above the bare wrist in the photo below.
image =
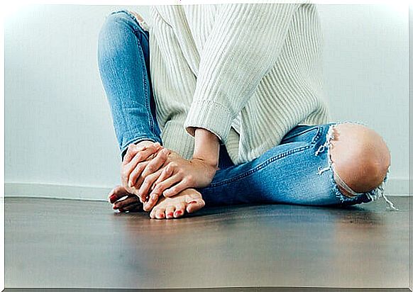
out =
<path fill-rule="evenodd" d="M 184 127 L 192 137 L 195 136 L 195 128 L 204 128 L 226 143 L 232 121 L 231 111 L 221 103 L 208 100 L 194 101 L 189 108 Z"/>

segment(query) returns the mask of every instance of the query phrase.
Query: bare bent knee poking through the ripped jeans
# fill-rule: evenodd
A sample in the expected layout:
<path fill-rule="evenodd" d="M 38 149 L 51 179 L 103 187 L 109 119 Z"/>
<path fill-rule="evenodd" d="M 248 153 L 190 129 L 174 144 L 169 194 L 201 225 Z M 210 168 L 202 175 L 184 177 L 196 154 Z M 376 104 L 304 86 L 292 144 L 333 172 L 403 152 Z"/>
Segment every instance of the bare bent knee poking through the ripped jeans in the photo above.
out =
<path fill-rule="evenodd" d="M 378 187 L 390 167 L 385 141 L 374 130 L 355 123 L 334 127 L 331 162 L 336 174 L 357 193 Z"/>

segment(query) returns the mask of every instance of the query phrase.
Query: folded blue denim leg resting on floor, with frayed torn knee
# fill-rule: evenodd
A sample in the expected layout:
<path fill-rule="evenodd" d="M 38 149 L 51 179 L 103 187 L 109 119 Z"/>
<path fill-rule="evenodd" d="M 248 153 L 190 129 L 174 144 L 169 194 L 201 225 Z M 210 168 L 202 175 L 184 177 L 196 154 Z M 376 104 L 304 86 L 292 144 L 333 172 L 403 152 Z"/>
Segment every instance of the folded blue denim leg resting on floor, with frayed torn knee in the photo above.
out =
<path fill-rule="evenodd" d="M 380 186 L 365 193 L 353 191 L 334 170 L 329 150 L 334 139 L 334 127 L 340 123 L 351 122 L 297 125 L 279 145 L 243 164 L 231 165 L 224 148 L 219 157 L 220 162 L 224 159 L 221 169 L 211 184 L 199 191 L 210 205 L 294 203 L 351 206 L 382 197 L 390 209 L 397 210 L 384 195 L 390 168 Z M 338 185 L 353 196 L 344 194 Z"/>

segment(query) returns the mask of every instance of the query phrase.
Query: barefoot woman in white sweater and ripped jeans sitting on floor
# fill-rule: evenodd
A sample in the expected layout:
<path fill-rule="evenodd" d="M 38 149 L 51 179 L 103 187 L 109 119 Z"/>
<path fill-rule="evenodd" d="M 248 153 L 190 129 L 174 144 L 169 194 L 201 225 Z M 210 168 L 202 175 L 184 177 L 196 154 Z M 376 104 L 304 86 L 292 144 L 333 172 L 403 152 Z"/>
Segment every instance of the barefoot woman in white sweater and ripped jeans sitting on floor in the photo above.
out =
<path fill-rule="evenodd" d="M 122 157 L 114 209 L 163 219 L 205 205 L 380 197 L 394 208 L 382 137 L 330 121 L 314 4 L 153 6 L 151 15 L 148 27 L 116 11 L 99 34 Z"/>

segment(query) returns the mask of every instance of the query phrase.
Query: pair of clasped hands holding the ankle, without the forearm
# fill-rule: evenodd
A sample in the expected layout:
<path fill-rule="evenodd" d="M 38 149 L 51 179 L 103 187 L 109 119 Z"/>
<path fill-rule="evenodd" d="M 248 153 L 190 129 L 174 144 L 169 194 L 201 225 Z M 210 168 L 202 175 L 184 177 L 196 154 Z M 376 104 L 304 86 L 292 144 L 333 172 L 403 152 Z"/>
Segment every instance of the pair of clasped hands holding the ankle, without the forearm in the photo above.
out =
<path fill-rule="evenodd" d="M 184 159 L 158 142 L 131 144 L 121 163 L 122 186 L 117 191 L 123 188 L 123 196 L 138 196 L 143 210 L 149 211 L 160 196 L 171 197 L 188 188 L 209 186 L 217 169 L 202 157 Z M 116 188 L 111 193 L 114 191 Z"/>

